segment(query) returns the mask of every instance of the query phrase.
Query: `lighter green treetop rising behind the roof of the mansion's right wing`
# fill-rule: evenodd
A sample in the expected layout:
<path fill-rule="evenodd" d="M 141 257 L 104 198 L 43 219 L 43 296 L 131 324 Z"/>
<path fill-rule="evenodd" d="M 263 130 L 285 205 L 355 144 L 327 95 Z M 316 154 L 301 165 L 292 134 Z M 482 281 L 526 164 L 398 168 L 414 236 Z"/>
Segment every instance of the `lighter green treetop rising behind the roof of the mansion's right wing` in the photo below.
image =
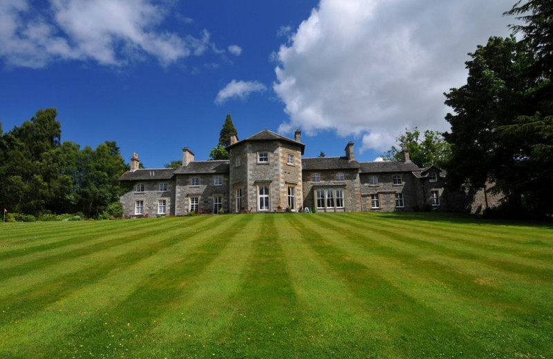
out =
<path fill-rule="evenodd" d="M 405 128 L 405 133 L 395 137 L 396 146 L 392 148 L 382 158 L 385 161 L 402 161 L 402 151 L 409 151 L 411 161 L 420 167 L 435 165 L 443 167 L 449 157 L 451 157 L 451 148 L 442 137 L 442 133 L 435 130 L 425 130 L 424 138 L 420 137 L 420 130 L 414 127 L 412 130 Z"/>

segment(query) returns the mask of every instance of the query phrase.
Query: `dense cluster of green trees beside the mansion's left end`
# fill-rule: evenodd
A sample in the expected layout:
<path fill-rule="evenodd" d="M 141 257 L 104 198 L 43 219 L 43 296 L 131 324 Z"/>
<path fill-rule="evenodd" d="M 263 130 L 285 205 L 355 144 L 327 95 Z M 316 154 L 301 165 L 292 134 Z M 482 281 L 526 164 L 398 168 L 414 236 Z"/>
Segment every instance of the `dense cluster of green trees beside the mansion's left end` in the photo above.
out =
<path fill-rule="evenodd" d="M 2 133 L 0 127 L 0 208 L 9 213 L 118 215 L 124 191 L 118 178 L 129 169 L 115 142 L 91 148 L 62 142 L 57 110 Z"/>

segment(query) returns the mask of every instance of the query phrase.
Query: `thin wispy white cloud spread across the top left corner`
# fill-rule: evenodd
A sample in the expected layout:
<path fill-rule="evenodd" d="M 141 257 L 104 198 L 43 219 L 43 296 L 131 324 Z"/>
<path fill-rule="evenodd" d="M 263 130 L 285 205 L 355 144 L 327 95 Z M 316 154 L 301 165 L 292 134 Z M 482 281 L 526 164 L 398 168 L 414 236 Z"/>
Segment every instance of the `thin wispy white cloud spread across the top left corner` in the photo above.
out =
<path fill-rule="evenodd" d="M 0 1 L 0 58 L 10 66 L 40 68 L 51 61 L 80 59 L 119 66 L 151 57 L 171 64 L 209 48 L 199 37 L 159 30 L 169 11 L 151 0 Z"/>

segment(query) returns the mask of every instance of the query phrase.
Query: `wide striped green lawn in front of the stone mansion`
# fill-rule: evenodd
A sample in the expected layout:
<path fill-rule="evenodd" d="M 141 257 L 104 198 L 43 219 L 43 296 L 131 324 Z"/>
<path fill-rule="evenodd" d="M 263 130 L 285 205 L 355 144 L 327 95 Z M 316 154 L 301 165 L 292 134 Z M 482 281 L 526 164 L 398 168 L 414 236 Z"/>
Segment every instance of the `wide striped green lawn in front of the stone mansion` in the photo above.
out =
<path fill-rule="evenodd" d="M 278 214 L 0 226 L 0 358 L 552 358 L 553 227 Z"/>

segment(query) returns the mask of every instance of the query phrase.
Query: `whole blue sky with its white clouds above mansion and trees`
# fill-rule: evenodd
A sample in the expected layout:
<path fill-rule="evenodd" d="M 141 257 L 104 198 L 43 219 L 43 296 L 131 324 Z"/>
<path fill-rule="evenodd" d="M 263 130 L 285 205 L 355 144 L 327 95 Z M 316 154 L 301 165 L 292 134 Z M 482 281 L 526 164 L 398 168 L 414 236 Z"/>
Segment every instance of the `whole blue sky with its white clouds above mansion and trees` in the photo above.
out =
<path fill-rule="evenodd" d="M 372 161 L 406 127 L 447 130 L 467 52 L 514 1 L 2 0 L 4 132 L 55 107 L 62 140 L 116 141 L 149 168 L 238 137 L 302 130 L 306 157 Z"/>

